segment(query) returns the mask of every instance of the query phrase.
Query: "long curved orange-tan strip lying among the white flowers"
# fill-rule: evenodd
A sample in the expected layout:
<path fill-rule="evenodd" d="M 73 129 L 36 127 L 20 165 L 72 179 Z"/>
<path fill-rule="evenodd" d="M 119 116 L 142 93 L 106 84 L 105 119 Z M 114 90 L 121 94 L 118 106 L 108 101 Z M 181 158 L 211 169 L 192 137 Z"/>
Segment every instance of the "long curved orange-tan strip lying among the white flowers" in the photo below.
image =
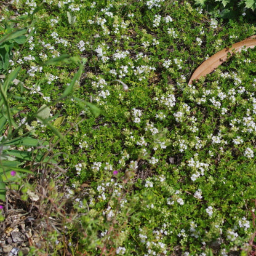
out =
<path fill-rule="evenodd" d="M 205 62 L 203 62 L 193 73 L 190 78 L 188 84 L 192 84 L 192 81 L 198 80 L 201 76 L 206 76 L 207 74 L 214 71 L 218 66 L 222 65 L 228 59 L 228 53 L 234 54 L 236 52 L 241 52 L 243 47 L 254 48 L 256 46 L 256 35 L 250 36 L 247 39 L 244 39 L 241 42 L 236 42 L 236 44 L 232 44 L 230 47 L 226 47 L 223 50 L 220 50 L 216 54 L 212 55 L 212 57 L 208 58 Z"/>

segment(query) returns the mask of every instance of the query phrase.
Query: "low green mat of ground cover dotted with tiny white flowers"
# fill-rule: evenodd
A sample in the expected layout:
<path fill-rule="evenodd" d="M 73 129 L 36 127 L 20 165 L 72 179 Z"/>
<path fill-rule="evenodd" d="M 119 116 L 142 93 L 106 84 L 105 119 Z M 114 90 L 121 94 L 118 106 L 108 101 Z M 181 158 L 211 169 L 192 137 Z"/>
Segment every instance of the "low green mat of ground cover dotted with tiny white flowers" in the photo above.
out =
<path fill-rule="evenodd" d="M 65 197 L 75 199 L 65 233 L 49 234 L 52 253 L 252 253 L 255 49 L 188 80 L 206 58 L 255 34 L 255 23 L 224 22 L 174 0 L 13 0 L 1 20 L 37 7 L 34 33 L 10 61 L 22 66 L 25 86 L 10 94 L 25 94 L 30 111 L 49 106 L 52 126 L 65 134 L 53 150 L 67 170 Z M 73 93 L 56 103 L 78 66 L 43 63 L 63 54 L 87 62 Z M 11 104 L 21 107 L 18 97 Z M 38 124 L 20 132 L 37 126 L 35 135 L 49 140 L 52 130 Z"/>

